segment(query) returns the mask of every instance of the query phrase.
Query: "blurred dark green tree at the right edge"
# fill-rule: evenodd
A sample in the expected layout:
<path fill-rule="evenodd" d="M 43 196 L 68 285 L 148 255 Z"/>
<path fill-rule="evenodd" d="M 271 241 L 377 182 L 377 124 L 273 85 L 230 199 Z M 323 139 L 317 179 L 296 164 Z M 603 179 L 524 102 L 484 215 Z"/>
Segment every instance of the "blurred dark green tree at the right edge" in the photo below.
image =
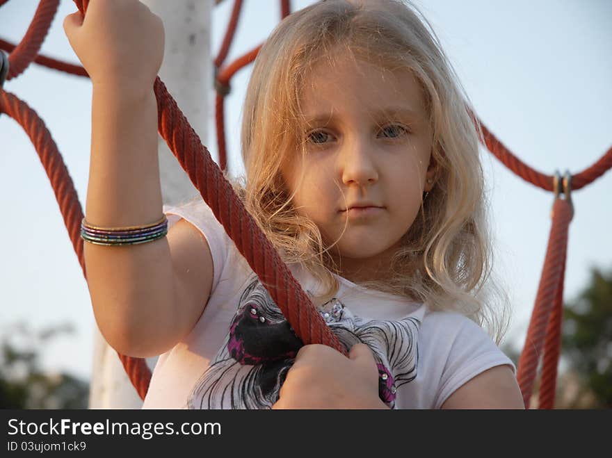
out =
<path fill-rule="evenodd" d="M 576 373 L 590 405 L 612 408 L 612 270 L 591 270 L 590 283 L 577 300 L 565 304 L 562 354 Z"/>

